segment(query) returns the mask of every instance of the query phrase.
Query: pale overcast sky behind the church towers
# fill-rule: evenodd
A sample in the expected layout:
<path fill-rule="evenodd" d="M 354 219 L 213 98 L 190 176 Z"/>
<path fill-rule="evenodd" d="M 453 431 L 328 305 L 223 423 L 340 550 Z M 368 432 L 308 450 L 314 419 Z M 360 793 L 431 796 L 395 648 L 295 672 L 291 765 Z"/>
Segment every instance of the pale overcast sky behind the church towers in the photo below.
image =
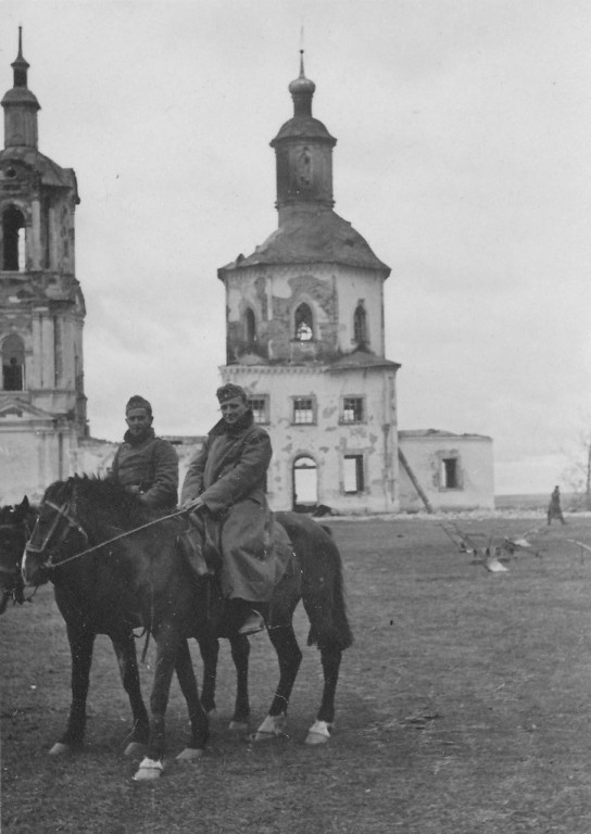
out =
<path fill-rule="evenodd" d="M 39 149 L 78 178 L 95 437 L 121 437 L 133 393 L 161 433 L 217 419 L 216 270 L 277 226 L 268 142 L 303 25 L 336 211 L 392 268 L 400 428 L 491 435 L 496 493 L 566 489 L 591 412 L 588 0 L 3 0 L 0 18 L 0 94 L 22 25 Z"/>

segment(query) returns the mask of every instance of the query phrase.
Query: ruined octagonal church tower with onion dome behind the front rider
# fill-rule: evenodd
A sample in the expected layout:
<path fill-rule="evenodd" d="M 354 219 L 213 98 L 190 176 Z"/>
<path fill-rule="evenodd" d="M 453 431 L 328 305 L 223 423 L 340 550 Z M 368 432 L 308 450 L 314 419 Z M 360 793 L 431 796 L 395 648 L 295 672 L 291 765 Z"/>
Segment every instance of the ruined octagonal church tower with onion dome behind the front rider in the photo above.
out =
<path fill-rule="evenodd" d="M 337 140 L 312 115 L 315 85 L 289 85 L 293 116 L 271 142 L 278 228 L 218 270 L 225 381 L 244 387 L 271 437 L 275 509 L 399 508 L 395 374 L 385 356 L 390 268 L 335 211 Z"/>

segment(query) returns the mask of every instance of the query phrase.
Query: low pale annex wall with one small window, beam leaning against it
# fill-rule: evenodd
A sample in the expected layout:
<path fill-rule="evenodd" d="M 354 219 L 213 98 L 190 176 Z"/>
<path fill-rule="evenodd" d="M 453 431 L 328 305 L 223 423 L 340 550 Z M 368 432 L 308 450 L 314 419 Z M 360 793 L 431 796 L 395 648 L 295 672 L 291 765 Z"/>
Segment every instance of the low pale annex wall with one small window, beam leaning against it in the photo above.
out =
<path fill-rule="evenodd" d="M 492 440 L 475 434 L 400 432 L 400 447 L 433 509 L 494 509 Z M 441 460 L 457 459 L 460 486 L 443 489 Z M 400 506 L 424 510 L 425 505 L 406 471 L 400 467 Z"/>

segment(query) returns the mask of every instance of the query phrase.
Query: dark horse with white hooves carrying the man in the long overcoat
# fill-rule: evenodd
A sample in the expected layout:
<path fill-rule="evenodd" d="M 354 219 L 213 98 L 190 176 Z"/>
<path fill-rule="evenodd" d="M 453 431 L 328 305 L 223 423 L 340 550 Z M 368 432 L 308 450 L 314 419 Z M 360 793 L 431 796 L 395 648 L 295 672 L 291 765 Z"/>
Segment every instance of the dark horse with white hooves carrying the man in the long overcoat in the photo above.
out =
<path fill-rule="evenodd" d="M 280 734 L 287 705 L 301 661 L 292 616 L 303 599 L 311 630 L 309 644 L 320 649 L 324 691 L 310 742 L 326 741 L 335 715 L 335 692 L 342 650 L 351 645 L 342 593 L 341 561 L 331 536 L 315 521 L 278 514 L 291 539 L 297 565 L 277 583 L 265 606 L 269 639 L 277 652 L 280 680 L 267 717 L 255 733 L 261 740 Z M 70 478 L 52 484 L 39 508 L 35 531 L 26 546 L 23 576 L 37 585 L 51 577 L 64 617 L 73 657 L 74 723 L 83 724 L 92 643 L 97 633 L 121 635 L 131 629 L 150 630 L 156 642 L 155 675 L 150 698 L 151 722 L 147 758 L 136 774 L 153 779 L 162 771 L 164 717 L 173 671 L 176 668 L 191 721 L 191 737 L 181 758 L 204 749 L 208 716 L 199 699 L 186 639 L 200 641 L 213 700 L 217 636 L 225 630 L 225 604 L 211 578 L 191 581 L 177 547 L 186 528 L 179 518 L 154 522 L 141 503 L 110 480 Z M 144 527 L 147 526 L 147 527 Z M 133 534 L 112 541 L 115 536 Z M 97 545 L 104 546 L 97 548 Z M 87 551 L 90 551 L 86 553 Z M 125 626 L 125 629 L 123 629 Z M 231 641 L 241 654 L 238 671 L 237 712 L 248 716 L 248 640 Z M 75 679 L 78 681 L 75 687 Z M 208 675 L 205 675 L 208 680 Z M 241 695 L 240 695 L 241 692 Z M 68 726 L 70 726 L 68 725 Z"/>

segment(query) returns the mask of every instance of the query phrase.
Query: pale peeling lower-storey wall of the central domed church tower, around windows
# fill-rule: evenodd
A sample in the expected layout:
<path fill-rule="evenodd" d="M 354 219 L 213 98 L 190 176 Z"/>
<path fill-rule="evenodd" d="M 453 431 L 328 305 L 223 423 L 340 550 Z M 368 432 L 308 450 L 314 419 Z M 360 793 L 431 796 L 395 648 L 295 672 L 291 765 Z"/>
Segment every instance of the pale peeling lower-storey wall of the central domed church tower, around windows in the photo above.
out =
<path fill-rule="evenodd" d="M 322 368 L 222 368 L 225 381 L 246 388 L 252 396 L 268 396 L 274 455 L 267 490 L 272 507 L 291 509 L 293 463 L 312 457 L 317 464 L 317 496 L 340 513 L 388 513 L 398 506 L 398 430 L 395 389 L 391 370 L 350 370 L 327 374 Z M 294 396 L 312 397 L 317 406 L 316 424 L 292 424 Z M 340 422 L 343 396 L 362 396 L 365 420 Z M 365 489 L 360 494 L 343 491 L 344 455 L 363 455 Z"/>

